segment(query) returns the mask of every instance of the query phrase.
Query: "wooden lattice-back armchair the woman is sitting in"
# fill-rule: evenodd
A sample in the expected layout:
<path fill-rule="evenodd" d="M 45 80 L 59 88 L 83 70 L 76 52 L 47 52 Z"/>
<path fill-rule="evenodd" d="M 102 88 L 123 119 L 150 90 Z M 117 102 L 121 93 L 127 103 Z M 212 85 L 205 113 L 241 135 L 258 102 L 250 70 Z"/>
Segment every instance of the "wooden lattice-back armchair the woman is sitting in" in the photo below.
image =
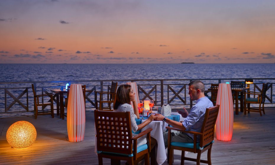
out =
<path fill-rule="evenodd" d="M 132 137 L 130 112 L 110 112 L 95 110 L 96 140 L 98 164 L 102 158 L 111 159 L 111 164 L 120 164 L 120 160 L 131 165 L 140 156 L 145 156 L 149 164 L 152 128 Z M 147 135 L 147 144 L 137 147 L 137 139 Z"/>

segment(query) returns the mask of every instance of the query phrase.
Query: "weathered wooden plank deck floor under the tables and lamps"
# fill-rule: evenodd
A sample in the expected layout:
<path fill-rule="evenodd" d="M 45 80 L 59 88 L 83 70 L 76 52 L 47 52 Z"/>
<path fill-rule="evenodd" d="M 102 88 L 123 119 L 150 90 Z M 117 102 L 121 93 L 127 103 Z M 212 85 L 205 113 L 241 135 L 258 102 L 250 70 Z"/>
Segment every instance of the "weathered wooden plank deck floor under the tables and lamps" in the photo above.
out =
<path fill-rule="evenodd" d="M 85 138 L 82 142 L 68 141 L 67 121 L 50 115 L 1 118 L 0 164 L 98 164 L 95 150 L 94 113 L 86 113 Z M 37 131 L 35 143 L 26 149 L 13 149 L 6 140 L 9 126 L 16 121 L 29 121 Z M 175 151 L 174 164 L 180 164 L 180 152 Z M 196 154 L 188 153 L 195 157 Z M 234 114 L 234 131 L 231 141 L 215 140 L 212 164 L 275 164 L 275 108 L 266 108 L 266 114 L 251 112 L 244 116 Z M 202 158 L 206 158 L 203 153 Z M 103 160 L 110 164 L 109 159 Z M 121 164 L 124 164 L 122 162 Z M 167 164 L 167 160 L 164 162 Z M 191 165 L 195 162 L 185 161 Z"/>

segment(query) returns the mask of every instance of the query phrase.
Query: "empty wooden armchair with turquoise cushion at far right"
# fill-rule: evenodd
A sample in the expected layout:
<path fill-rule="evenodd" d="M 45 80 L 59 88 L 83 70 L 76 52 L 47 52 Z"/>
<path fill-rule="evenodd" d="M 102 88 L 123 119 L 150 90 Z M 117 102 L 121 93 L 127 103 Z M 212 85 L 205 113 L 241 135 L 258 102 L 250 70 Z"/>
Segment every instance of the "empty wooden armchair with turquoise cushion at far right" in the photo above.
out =
<path fill-rule="evenodd" d="M 252 112 L 259 112 L 260 115 L 262 116 L 262 112 L 263 114 L 265 114 L 264 112 L 264 102 L 266 100 L 266 90 L 268 89 L 268 83 L 264 83 L 263 84 L 263 88 L 261 90 L 261 92 L 253 92 L 253 91 L 248 91 L 245 92 L 245 115 L 246 115 L 246 105 L 248 104 L 248 113 L 250 113 L 250 111 Z M 246 96 L 248 95 L 248 96 Z M 253 95 L 253 97 L 250 97 L 250 95 Z M 257 97 L 257 98 L 255 98 Z M 259 108 L 250 108 L 250 104 L 259 104 Z M 263 104 L 263 108 L 261 109 L 261 104 Z"/>

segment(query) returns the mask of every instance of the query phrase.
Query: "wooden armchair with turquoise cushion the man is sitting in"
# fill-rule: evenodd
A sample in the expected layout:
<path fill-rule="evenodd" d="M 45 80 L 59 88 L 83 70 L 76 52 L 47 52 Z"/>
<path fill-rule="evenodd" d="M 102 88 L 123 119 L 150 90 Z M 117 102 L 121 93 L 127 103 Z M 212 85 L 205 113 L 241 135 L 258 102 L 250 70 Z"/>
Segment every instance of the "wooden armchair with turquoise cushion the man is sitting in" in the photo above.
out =
<path fill-rule="evenodd" d="M 174 149 L 181 150 L 181 164 L 184 164 L 185 160 L 195 161 L 197 165 L 201 163 L 207 163 L 211 165 L 211 149 L 214 142 L 214 131 L 215 124 L 219 113 L 219 105 L 216 105 L 211 108 L 206 108 L 206 113 L 204 116 L 203 126 L 201 128 L 201 132 L 192 132 L 192 131 L 182 131 L 180 129 L 174 127 L 166 127 L 168 129 L 168 161 L 169 165 L 173 164 L 173 153 Z M 194 134 L 194 143 L 179 143 L 179 142 L 171 142 L 171 130 L 181 131 L 186 133 Z M 197 143 L 197 136 L 200 136 L 200 142 Z M 200 160 L 201 153 L 208 150 L 207 152 L 207 160 Z M 198 153 L 197 159 L 185 157 L 185 151 Z"/>

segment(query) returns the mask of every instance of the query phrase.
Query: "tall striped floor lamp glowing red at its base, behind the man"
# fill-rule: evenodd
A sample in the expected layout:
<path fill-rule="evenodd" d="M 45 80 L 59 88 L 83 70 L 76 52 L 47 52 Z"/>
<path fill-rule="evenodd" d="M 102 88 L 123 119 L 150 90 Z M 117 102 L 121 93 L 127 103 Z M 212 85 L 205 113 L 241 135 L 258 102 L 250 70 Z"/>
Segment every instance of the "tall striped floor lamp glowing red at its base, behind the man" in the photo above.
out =
<path fill-rule="evenodd" d="M 233 100 L 230 84 L 219 84 L 216 105 L 220 105 L 216 121 L 216 137 L 221 141 L 230 141 L 233 134 Z"/>

